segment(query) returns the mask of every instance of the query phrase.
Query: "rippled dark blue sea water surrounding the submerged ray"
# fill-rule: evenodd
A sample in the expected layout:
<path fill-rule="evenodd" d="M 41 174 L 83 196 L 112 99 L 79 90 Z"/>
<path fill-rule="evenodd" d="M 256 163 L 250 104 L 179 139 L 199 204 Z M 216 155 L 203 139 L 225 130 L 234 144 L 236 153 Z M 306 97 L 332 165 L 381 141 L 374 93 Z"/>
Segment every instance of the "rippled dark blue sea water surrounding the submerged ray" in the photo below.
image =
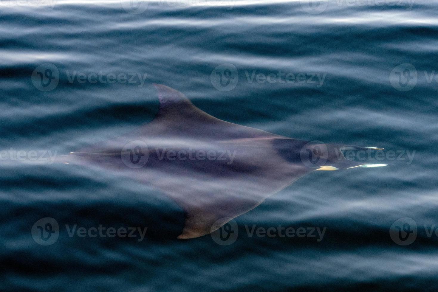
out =
<path fill-rule="evenodd" d="M 2 2 L 0 146 L 25 154 L 1 161 L 0 290 L 436 287 L 437 5 L 348 3 L 150 1 L 134 14 L 146 3 Z M 152 120 L 152 83 L 232 123 L 385 148 L 383 159 L 368 160 L 388 166 L 312 172 L 237 217 L 237 240 L 220 245 L 209 235 L 174 239 L 178 225 L 164 225 L 178 222 L 180 210 L 158 190 L 33 158 L 31 151 L 65 155 Z M 59 224 L 51 245 L 32 237 L 41 218 Z M 71 237 L 66 225 L 148 232 L 143 240 Z M 253 225 L 325 233 L 251 236 Z"/>

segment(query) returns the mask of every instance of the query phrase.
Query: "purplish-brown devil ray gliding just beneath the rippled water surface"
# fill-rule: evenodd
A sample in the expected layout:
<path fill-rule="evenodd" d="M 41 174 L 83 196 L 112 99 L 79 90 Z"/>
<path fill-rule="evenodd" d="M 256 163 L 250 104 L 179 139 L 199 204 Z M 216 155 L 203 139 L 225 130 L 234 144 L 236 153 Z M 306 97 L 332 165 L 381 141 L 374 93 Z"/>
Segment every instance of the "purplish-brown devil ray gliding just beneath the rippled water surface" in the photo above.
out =
<path fill-rule="evenodd" d="M 179 91 L 154 85 L 160 107 L 152 122 L 63 161 L 119 170 L 166 193 L 184 210 L 179 239 L 219 229 L 313 170 L 365 166 L 341 150 L 368 148 L 309 143 L 228 123 Z"/>

